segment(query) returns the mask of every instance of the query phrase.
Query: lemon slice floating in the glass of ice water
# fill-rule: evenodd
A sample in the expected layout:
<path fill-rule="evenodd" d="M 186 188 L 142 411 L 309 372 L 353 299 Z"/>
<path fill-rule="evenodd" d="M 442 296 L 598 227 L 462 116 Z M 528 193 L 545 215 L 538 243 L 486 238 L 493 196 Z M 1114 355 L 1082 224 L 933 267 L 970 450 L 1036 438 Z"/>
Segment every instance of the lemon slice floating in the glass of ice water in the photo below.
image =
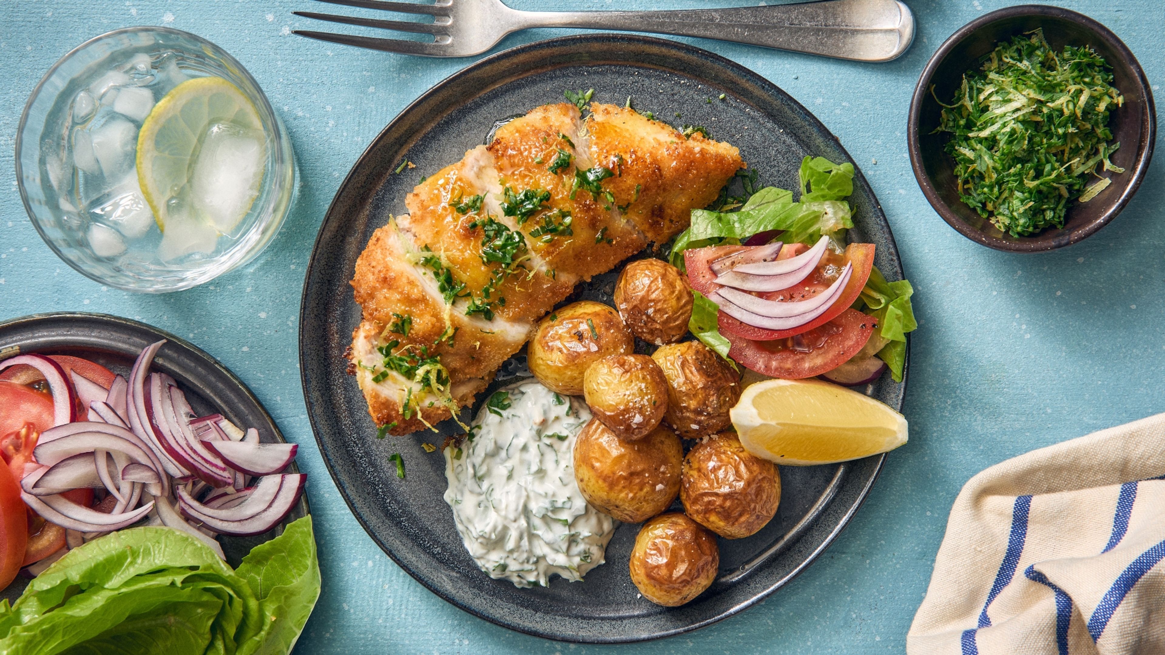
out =
<path fill-rule="evenodd" d="M 259 110 L 221 77 L 175 86 L 137 133 L 137 182 L 163 233 L 176 216 L 230 232 L 259 196 L 266 160 Z"/>

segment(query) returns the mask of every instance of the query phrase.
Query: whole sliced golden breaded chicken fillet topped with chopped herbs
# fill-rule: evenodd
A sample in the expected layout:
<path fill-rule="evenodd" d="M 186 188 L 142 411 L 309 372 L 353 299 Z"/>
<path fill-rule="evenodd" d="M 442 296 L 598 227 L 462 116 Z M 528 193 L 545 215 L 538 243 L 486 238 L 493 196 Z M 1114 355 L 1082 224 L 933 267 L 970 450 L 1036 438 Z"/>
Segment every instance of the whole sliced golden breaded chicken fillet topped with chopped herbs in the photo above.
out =
<path fill-rule="evenodd" d="M 472 403 L 578 281 L 686 228 L 742 165 L 702 134 L 591 111 L 546 105 L 500 127 L 373 233 L 352 280 L 363 321 L 347 357 L 389 432 Z"/>

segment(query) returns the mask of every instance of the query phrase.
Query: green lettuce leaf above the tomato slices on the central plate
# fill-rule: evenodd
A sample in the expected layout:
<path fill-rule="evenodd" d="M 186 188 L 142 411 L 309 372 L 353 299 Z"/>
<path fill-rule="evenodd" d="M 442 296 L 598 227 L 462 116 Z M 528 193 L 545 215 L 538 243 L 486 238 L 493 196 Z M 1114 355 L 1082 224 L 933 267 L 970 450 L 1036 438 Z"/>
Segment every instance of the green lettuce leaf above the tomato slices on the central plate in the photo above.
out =
<path fill-rule="evenodd" d="M 814 242 L 822 234 L 838 234 L 854 226 L 849 203 L 854 191 L 854 167 L 834 164 L 825 157 L 805 157 L 800 168 L 802 197 L 792 191 L 767 186 L 739 211 L 692 210 L 692 220 L 671 247 L 672 266 L 684 270 L 684 251 L 741 240 L 767 230 L 784 230 L 786 244 Z"/>

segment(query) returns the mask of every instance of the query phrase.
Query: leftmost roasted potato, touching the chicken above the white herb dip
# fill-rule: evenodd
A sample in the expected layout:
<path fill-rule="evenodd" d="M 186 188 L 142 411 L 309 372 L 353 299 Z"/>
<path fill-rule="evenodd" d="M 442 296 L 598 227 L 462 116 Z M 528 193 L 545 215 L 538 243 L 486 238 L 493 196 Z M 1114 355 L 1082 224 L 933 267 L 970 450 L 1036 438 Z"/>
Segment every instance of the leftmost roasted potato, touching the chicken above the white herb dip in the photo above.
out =
<path fill-rule="evenodd" d="M 602 303 L 582 301 L 552 311 L 538 323 L 527 348 L 527 364 L 550 390 L 578 396 L 582 395 L 582 376 L 593 361 L 634 350 L 635 337 L 619 312 Z"/>

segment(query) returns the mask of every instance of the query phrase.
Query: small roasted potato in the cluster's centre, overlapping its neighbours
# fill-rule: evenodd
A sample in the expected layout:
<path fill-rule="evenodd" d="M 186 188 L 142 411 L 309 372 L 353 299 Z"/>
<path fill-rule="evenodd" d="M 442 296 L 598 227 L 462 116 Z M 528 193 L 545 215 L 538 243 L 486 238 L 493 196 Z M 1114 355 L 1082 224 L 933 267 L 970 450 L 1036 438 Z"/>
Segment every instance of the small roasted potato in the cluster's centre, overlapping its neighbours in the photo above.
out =
<path fill-rule="evenodd" d="M 582 395 L 595 418 L 624 439 L 655 430 L 668 409 L 668 379 L 645 354 L 609 354 L 582 378 Z"/>

